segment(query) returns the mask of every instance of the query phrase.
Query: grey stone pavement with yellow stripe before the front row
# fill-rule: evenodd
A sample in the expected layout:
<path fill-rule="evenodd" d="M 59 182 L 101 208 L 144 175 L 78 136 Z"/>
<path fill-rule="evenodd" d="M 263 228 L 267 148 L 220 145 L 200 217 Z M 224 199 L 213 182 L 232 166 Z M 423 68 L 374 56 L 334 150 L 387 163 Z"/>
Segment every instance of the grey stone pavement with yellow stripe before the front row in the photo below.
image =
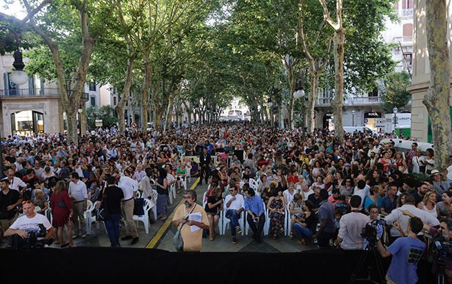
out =
<path fill-rule="evenodd" d="M 195 178 L 192 178 L 187 187 L 194 187 L 198 196 L 198 204 L 202 205 L 203 193 L 207 190 L 207 185 L 198 185 Z M 183 191 L 177 194 L 176 200 L 172 205 L 168 205 L 168 214 L 170 217 L 176 206 L 179 205 L 183 199 Z M 153 215 L 153 214 L 152 214 Z M 172 216 L 171 216 L 172 217 Z M 176 227 L 169 224 L 170 220 L 155 221 L 150 224 L 149 234 L 146 234 L 144 225 L 138 222 L 138 243 L 130 245 L 131 240 L 120 241 L 122 247 L 136 247 L 136 248 L 158 248 L 175 252 L 172 238 L 176 233 Z M 98 228 L 99 225 L 99 228 Z M 125 224 L 120 223 L 120 238 L 125 236 Z M 216 229 L 218 232 L 218 228 Z M 296 240 L 291 240 L 285 236 L 281 239 L 271 239 L 269 236 L 264 236 L 262 243 L 257 243 L 251 239 L 251 232 L 249 236 L 238 236 L 238 243 L 232 244 L 230 231 L 227 230 L 225 236 L 217 234 L 214 241 L 209 241 L 209 238 L 203 239 L 203 252 L 300 252 L 303 250 L 316 249 L 315 245 L 300 245 Z M 85 239 L 81 237 L 74 240 L 74 243 L 79 247 L 110 247 L 110 240 L 105 232 L 103 224 L 92 224 L 92 234 Z M 0 247 L 6 247 L 6 240 L 0 242 Z M 51 247 L 58 248 L 59 245 L 51 245 Z"/>

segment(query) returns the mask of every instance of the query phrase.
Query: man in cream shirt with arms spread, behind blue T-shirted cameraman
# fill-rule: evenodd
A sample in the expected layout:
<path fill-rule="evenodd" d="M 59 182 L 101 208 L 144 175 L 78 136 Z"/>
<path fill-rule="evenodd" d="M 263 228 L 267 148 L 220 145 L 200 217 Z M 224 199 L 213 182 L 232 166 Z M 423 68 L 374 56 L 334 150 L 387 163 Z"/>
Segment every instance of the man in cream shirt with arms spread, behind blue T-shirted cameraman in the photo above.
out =
<path fill-rule="evenodd" d="M 435 218 L 432 214 L 430 214 L 427 211 L 421 210 L 414 206 L 415 200 L 414 196 L 411 194 L 408 194 L 405 196 L 405 201 L 401 207 L 398 207 L 395 210 L 391 211 L 391 214 L 386 216 L 384 220 L 386 221 L 387 225 L 392 225 L 393 223 L 397 222 L 400 225 L 400 228 L 402 229 L 405 236 L 408 235 L 408 223 L 410 217 L 403 214 L 403 210 L 408 210 L 411 212 L 414 216 L 419 217 L 422 222 L 427 223 L 427 225 L 431 227 L 435 227 L 437 225 L 440 225 L 440 221 Z M 424 234 L 423 232 L 420 232 L 418 235 Z M 396 230 L 396 228 L 391 229 L 391 236 L 402 236 L 402 233 Z"/>

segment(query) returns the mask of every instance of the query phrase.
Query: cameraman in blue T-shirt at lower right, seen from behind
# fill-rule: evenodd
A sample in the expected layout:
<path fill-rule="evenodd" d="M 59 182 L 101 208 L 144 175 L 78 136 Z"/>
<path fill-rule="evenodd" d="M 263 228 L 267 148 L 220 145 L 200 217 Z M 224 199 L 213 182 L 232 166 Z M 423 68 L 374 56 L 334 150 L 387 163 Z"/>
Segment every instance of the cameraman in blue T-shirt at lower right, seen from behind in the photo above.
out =
<path fill-rule="evenodd" d="M 425 250 L 425 243 L 418 239 L 422 230 L 422 221 L 418 217 L 409 220 L 408 236 L 399 238 L 388 248 L 378 241 L 378 251 L 382 257 L 392 255 L 391 265 L 386 274 L 387 283 L 411 284 L 418 282 L 418 263 Z"/>

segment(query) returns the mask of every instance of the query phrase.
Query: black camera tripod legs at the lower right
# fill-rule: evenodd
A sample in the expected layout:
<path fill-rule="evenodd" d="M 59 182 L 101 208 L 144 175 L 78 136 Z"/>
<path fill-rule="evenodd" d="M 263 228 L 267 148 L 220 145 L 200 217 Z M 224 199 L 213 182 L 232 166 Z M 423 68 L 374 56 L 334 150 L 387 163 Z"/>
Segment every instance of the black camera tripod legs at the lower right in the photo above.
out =
<path fill-rule="evenodd" d="M 360 272 L 362 270 L 362 266 L 364 265 L 364 263 L 366 263 L 367 258 L 369 257 L 369 254 L 373 254 L 373 258 L 375 260 L 375 265 L 377 267 L 377 272 L 378 272 L 378 277 L 380 278 L 380 282 L 372 280 L 371 271 L 373 270 L 373 268 L 371 266 L 367 267 L 367 278 L 356 278 L 356 276 L 358 276 L 358 272 Z M 358 263 L 356 264 L 356 267 L 353 270 L 353 273 L 351 274 L 350 279 L 349 279 L 349 284 L 356 283 L 356 282 L 366 282 L 366 283 L 375 283 L 375 284 L 380 284 L 380 283 L 385 284 L 386 283 L 386 278 L 384 277 L 383 264 L 381 261 L 380 254 L 378 253 L 376 243 L 371 245 L 368 250 L 364 250 L 364 252 L 362 252 L 360 259 L 358 260 Z"/>

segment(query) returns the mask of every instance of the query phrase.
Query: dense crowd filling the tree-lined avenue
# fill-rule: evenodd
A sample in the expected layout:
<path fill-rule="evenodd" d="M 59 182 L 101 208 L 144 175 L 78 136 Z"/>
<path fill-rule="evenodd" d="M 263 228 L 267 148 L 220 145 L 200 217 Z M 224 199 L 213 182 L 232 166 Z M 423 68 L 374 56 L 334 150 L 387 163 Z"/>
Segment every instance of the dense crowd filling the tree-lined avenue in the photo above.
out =
<path fill-rule="evenodd" d="M 91 201 L 99 211 L 103 204 L 110 211 L 105 226 L 112 247 L 120 243 L 121 218 L 127 232 L 121 240 L 134 244 L 134 198 L 148 199 L 157 219 L 165 220 L 170 188 L 187 190 L 187 177 L 199 176 L 198 184 L 208 189 L 198 201 L 204 207 L 194 211 L 203 217 L 196 223 L 211 241 L 225 219 L 234 244 L 247 227 L 258 242 L 264 232 L 274 239 L 287 234 L 300 245 L 362 249 L 362 228 L 380 218 L 390 225 L 387 232 L 379 230 L 387 244 L 417 231 L 417 225 L 410 227 L 413 218 L 429 232 L 444 227 L 449 239 L 452 166 L 438 172 L 433 149 L 424 155 L 415 142 L 407 152 L 380 143 L 391 137 L 356 132 L 336 143 L 328 130 L 307 133 L 250 123 L 192 125 L 163 134 L 99 129 L 79 145 L 66 143 L 63 134 L 8 136 L 1 141 L 1 231 L 25 214 L 28 202 L 37 214 L 51 208 L 45 216 L 52 216 L 55 242 L 74 246 L 74 238 L 88 234 L 84 212 Z M 178 227 L 187 223 L 187 208 L 196 207 L 196 194 L 184 196 L 185 211 L 178 210 L 173 219 Z M 190 227 L 181 231 L 185 239 L 200 234 Z M 424 241 L 423 230 L 416 234 Z M 187 250 L 201 250 L 197 242 L 187 244 Z"/>

